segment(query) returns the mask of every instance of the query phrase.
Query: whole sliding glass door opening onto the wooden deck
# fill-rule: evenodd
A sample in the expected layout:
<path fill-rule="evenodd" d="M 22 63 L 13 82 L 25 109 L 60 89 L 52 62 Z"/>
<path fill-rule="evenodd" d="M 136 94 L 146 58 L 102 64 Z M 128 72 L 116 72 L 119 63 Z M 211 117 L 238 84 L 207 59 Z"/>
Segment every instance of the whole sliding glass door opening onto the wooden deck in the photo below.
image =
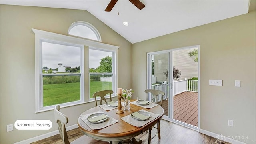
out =
<path fill-rule="evenodd" d="M 165 93 L 164 119 L 194 130 L 200 124 L 199 60 L 199 46 L 149 52 L 147 58 L 147 88 Z"/>

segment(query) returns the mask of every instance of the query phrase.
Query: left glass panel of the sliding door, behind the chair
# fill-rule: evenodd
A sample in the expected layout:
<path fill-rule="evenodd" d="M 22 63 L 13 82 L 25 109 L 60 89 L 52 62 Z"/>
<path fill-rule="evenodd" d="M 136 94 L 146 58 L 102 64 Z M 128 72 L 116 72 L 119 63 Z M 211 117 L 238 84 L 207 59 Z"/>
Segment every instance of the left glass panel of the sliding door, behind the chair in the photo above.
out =
<path fill-rule="evenodd" d="M 164 92 L 163 104 L 164 115 L 170 118 L 170 104 L 172 99 L 172 54 L 171 51 L 148 53 L 148 89 L 156 89 Z M 150 100 L 148 95 L 148 100 Z M 160 102 L 160 96 L 158 97 Z"/>

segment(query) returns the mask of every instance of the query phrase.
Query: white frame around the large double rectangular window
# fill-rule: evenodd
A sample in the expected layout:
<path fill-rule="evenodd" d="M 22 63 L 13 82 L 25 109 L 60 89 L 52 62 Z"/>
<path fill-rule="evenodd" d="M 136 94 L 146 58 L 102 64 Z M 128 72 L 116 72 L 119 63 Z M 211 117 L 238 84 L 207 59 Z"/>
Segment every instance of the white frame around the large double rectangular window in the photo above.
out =
<path fill-rule="evenodd" d="M 104 44 L 102 42 L 97 42 L 94 40 L 86 40 L 83 38 L 77 38 L 77 37 L 72 37 L 72 36 L 66 36 L 66 35 L 62 35 L 62 34 L 56 34 L 56 33 L 52 33 L 52 32 L 46 32 L 43 30 L 37 30 L 37 29 L 33 29 L 32 31 L 35 33 L 35 96 L 36 96 L 36 108 L 35 108 L 35 112 L 44 112 L 44 111 L 48 111 L 48 110 L 52 110 L 54 106 L 47 106 L 42 108 L 41 107 L 41 73 L 42 73 L 42 64 L 41 64 L 41 58 L 42 58 L 42 52 L 40 51 L 40 40 L 51 40 L 54 42 L 63 42 L 63 43 L 68 43 L 68 44 L 74 44 L 74 45 L 82 45 L 82 46 L 88 46 L 93 47 L 93 48 L 98 48 L 98 49 L 102 49 L 102 50 L 110 50 L 113 51 L 113 58 L 112 60 L 114 61 L 113 63 L 113 77 L 114 77 L 114 94 L 116 93 L 116 89 L 118 86 L 118 80 L 117 80 L 117 50 L 119 48 L 119 46 L 113 46 L 110 44 Z M 89 62 L 88 56 L 84 56 L 83 58 L 83 62 L 84 65 L 87 65 Z M 86 63 L 86 64 L 85 64 Z M 88 68 L 89 69 L 89 68 Z M 87 72 L 84 72 L 82 74 L 82 82 L 84 85 L 84 80 L 89 78 L 89 71 L 88 74 L 85 74 Z M 87 77 L 87 78 L 86 78 Z M 65 105 L 63 107 L 67 107 L 67 106 L 73 106 L 73 105 L 77 105 L 77 104 L 81 104 L 84 102 L 89 102 L 89 91 L 88 92 L 84 92 L 84 86 L 83 86 L 83 94 L 84 96 L 82 96 L 82 102 L 77 102 L 75 104 L 68 104 Z M 89 87 L 88 87 L 89 90 Z M 62 105 L 62 104 L 60 104 Z"/>

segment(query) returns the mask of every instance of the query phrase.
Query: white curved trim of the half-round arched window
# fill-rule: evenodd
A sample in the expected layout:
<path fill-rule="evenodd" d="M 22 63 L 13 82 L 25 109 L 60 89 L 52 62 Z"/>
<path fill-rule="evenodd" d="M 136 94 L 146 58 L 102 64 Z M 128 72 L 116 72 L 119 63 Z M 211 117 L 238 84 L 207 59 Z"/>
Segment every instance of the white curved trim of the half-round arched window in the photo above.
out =
<path fill-rule="evenodd" d="M 84 21 L 73 22 L 70 25 L 70 27 L 68 28 L 68 34 L 69 34 L 70 30 L 72 28 L 74 28 L 75 26 L 86 26 L 87 28 L 90 28 L 92 30 L 92 32 L 94 32 L 94 34 L 96 35 L 98 41 L 101 42 L 100 32 L 92 24 L 90 24 L 89 22 L 84 22 Z M 69 34 L 69 35 L 70 36 L 75 36 L 75 35 L 72 35 L 72 34 Z M 84 37 L 81 37 L 81 38 L 84 38 Z"/>

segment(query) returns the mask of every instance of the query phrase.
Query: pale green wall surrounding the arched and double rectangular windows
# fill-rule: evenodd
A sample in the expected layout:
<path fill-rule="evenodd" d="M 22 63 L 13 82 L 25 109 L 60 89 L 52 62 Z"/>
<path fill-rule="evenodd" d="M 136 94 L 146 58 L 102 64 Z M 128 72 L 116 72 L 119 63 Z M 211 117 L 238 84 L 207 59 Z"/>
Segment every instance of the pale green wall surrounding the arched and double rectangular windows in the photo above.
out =
<path fill-rule="evenodd" d="M 89 22 L 97 28 L 102 42 L 120 46 L 118 49 L 118 87 L 132 88 L 132 44 L 85 10 L 1 5 L 1 144 L 19 142 L 57 130 L 53 110 L 35 113 L 35 34 L 31 28 L 67 35 L 76 21 Z M 86 81 L 85 81 L 86 82 Z M 85 85 L 88 86 L 88 83 Z M 88 96 L 88 91 L 85 92 Z M 63 108 L 69 122 L 94 102 Z M 19 119 L 48 119 L 50 130 L 16 130 L 6 132 L 7 124 Z"/>

